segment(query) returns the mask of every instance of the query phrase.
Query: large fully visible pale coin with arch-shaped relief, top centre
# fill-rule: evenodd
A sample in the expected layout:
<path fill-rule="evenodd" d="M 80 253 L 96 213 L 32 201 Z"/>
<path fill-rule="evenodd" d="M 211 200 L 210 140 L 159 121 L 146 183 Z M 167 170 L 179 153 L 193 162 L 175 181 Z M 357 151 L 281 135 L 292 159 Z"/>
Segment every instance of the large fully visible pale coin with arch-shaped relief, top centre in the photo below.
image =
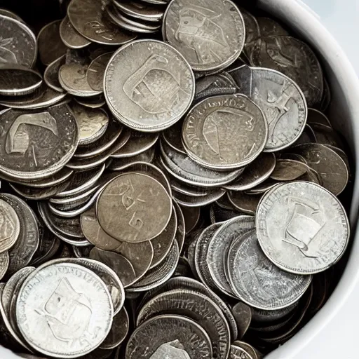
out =
<path fill-rule="evenodd" d="M 133 41 L 109 61 L 104 93 L 119 121 L 135 130 L 154 132 L 172 126 L 187 111 L 194 98 L 194 74 L 167 43 Z"/>

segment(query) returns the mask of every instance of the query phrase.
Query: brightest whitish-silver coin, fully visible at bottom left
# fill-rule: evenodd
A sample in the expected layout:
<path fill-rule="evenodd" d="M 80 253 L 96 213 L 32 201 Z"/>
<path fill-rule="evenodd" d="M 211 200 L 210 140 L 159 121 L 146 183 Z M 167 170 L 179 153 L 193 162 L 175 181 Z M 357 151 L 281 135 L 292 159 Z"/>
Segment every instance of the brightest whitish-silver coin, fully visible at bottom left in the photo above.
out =
<path fill-rule="evenodd" d="M 57 358 L 76 358 L 97 348 L 111 329 L 113 314 L 109 291 L 100 277 L 69 263 L 32 273 L 16 305 L 24 339 L 36 351 Z"/>

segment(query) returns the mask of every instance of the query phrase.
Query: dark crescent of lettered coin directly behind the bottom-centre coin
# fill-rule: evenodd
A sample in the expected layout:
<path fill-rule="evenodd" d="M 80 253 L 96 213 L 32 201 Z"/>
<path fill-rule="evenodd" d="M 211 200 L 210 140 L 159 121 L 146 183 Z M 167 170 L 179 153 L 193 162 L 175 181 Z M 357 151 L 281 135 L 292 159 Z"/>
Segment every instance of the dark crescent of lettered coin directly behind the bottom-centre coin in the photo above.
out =
<path fill-rule="evenodd" d="M 211 339 L 213 358 L 227 358 L 229 325 L 219 306 L 207 295 L 184 289 L 158 294 L 142 307 L 137 316 L 137 325 L 161 314 L 177 314 L 195 320 Z"/>

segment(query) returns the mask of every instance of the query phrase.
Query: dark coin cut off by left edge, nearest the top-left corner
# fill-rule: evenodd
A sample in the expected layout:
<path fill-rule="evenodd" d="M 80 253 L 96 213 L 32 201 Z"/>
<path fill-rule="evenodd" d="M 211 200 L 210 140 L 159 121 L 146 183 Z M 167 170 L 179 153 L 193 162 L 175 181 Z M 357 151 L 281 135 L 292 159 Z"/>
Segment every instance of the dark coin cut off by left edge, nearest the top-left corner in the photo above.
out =
<path fill-rule="evenodd" d="M 19 20 L 0 14 L 0 62 L 33 67 L 37 56 L 34 33 Z"/>

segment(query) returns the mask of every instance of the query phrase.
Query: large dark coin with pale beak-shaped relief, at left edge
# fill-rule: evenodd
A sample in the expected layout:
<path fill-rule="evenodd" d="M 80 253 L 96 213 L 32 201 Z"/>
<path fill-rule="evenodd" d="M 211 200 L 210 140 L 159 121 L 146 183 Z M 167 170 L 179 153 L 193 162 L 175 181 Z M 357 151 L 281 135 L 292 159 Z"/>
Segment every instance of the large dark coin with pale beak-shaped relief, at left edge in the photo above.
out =
<path fill-rule="evenodd" d="M 53 175 L 72 158 L 79 142 L 77 123 L 67 104 L 31 114 L 8 109 L 0 118 L 0 171 L 11 177 Z"/>

